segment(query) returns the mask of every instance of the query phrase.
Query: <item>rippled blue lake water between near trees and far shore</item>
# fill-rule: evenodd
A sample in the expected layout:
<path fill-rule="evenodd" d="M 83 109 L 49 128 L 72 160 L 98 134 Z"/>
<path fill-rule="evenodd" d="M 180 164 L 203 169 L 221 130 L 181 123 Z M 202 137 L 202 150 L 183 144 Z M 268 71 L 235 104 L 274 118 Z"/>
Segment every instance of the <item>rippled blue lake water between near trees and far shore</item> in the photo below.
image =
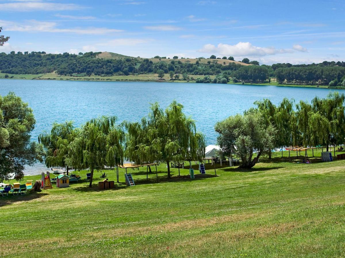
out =
<path fill-rule="evenodd" d="M 256 100 L 269 98 L 274 104 L 284 97 L 310 101 L 315 96 L 326 97 L 335 90 L 238 84 L 0 79 L 0 95 L 10 91 L 33 109 L 36 118 L 33 140 L 37 140 L 42 131 L 49 131 L 53 122 L 73 120 L 79 126 L 101 115 L 117 116 L 119 122 L 140 121 L 148 114 L 150 103 L 158 101 L 165 109 L 176 99 L 184 105 L 185 114 L 196 120 L 197 129 L 205 134 L 207 144 L 215 144 L 215 123 L 243 113 L 254 106 Z"/>

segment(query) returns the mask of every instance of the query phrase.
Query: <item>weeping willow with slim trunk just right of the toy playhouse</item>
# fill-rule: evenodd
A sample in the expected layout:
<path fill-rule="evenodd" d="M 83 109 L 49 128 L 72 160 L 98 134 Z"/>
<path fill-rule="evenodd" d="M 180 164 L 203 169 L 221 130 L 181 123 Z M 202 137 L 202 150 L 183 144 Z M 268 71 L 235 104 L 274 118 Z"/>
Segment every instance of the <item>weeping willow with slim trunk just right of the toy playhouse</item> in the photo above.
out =
<path fill-rule="evenodd" d="M 76 138 L 69 144 L 68 164 L 76 169 L 90 169 L 90 184 L 94 170 L 106 165 L 123 164 L 124 134 L 116 126 L 117 117 L 99 117 L 86 122 L 78 130 Z"/>

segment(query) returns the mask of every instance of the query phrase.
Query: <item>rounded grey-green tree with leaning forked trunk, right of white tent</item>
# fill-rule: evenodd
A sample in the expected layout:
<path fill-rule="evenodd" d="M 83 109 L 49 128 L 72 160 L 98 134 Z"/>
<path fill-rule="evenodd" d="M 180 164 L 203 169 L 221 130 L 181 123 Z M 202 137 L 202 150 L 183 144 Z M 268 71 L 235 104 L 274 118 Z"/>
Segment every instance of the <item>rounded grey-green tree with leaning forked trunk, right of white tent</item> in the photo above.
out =
<path fill-rule="evenodd" d="M 221 152 L 235 154 L 242 160 L 239 168 L 252 168 L 264 152 L 274 147 L 274 127 L 267 127 L 262 114 L 254 109 L 243 116 L 237 114 L 217 122 L 215 130 L 219 133 L 217 142 Z"/>

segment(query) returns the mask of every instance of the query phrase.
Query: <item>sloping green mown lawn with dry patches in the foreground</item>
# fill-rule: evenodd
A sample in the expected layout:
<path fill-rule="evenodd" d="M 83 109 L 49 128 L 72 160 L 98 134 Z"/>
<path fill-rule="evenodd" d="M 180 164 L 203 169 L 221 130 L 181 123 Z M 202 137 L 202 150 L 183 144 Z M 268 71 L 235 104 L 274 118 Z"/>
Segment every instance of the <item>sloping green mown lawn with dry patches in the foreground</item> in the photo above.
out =
<path fill-rule="evenodd" d="M 291 153 L 292 154 L 292 153 Z M 69 188 L 0 197 L 7 257 L 341 257 L 345 253 L 345 160 L 261 159 L 250 171 L 206 166 L 191 180 L 166 165 L 129 170 L 136 186 Z M 302 154 L 302 153 L 301 153 Z M 315 151 L 316 156 L 320 150 Z M 336 153 L 337 154 L 337 153 Z M 311 151 L 308 156 L 312 156 Z M 197 169 L 197 165 L 194 165 Z M 109 180 L 115 172 L 105 171 Z M 80 172 L 82 178 L 86 171 Z M 28 176 L 27 179 L 39 179 Z M 11 181 L 14 182 L 14 181 Z"/>

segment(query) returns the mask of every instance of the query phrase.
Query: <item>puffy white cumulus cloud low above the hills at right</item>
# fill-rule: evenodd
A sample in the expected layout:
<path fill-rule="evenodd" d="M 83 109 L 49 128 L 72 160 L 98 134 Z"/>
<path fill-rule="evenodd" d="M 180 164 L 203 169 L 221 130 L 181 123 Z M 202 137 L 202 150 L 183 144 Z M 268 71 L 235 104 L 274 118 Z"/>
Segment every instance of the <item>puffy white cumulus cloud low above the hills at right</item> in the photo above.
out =
<path fill-rule="evenodd" d="M 275 47 L 258 47 L 253 46 L 249 42 L 238 42 L 235 45 L 219 43 L 217 46 L 206 44 L 202 49 L 198 50 L 202 53 L 214 53 L 230 56 L 265 56 L 275 55 L 278 53 L 292 53 L 289 49 L 276 49 Z"/>

